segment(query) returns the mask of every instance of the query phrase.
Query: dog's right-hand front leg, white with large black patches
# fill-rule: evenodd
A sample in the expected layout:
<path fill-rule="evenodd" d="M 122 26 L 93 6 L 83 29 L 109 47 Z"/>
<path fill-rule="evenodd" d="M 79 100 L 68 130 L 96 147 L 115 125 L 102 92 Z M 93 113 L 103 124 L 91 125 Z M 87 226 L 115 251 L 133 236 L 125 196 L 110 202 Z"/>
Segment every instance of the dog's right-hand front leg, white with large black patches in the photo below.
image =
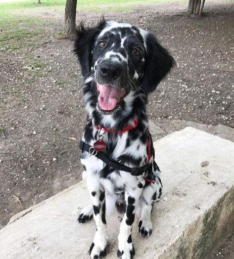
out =
<path fill-rule="evenodd" d="M 144 182 L 144 181 L 143 181 Z M 135 255 L 135 250 L 132 241 L 132 226 L 135 219 L 136 207 L 138 206 L 142 188 L 138 186 L 125 191 L 126 212 L 120 224 L 118 236 L 118 258 L 132 259 Z"/>

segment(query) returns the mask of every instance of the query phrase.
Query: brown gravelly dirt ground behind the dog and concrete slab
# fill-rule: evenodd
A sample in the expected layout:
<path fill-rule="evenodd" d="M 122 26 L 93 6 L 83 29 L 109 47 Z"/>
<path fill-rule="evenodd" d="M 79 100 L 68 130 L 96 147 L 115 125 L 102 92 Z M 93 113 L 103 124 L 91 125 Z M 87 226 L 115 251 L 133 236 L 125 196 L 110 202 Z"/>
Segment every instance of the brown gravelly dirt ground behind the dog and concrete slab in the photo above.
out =
<path fill-rule="evenodd" d="M 177 62 L 150 97 L 151 120 L 234 128 L 234 2 L 208 1 L 203 17 L 182 10 L 186 4 L 164 3 L 105 17 L 154 32 Z M 77 22 L 94 24 L 100 15 L 79 12 Z M 73 42 L 52 36 L 62 30 L 63 15 L 53 18 L 38 36 L 41 47 L 0 52 L 0 228 L 81 179 L 81 72 Z"/>

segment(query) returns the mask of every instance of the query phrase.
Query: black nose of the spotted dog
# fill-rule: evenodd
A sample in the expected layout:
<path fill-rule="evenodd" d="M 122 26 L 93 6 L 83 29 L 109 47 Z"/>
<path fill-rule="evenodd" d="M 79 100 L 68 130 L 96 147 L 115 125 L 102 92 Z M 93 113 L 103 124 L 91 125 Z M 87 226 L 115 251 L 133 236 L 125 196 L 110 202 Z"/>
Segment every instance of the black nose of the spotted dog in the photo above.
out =
<path fill-rule="evenodd" d="M 117 79 L 123 73 L 123 68 L 119 64 L 104 62 L 100 66 L 101 75 L 106 79 Z"/>

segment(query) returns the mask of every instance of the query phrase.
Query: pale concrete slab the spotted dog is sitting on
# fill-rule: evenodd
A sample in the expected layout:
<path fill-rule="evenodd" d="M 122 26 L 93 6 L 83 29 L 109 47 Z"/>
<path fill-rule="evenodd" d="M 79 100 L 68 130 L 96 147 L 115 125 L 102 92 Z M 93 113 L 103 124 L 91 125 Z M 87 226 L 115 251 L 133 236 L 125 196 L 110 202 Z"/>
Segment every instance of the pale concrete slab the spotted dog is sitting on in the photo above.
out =
<path fill-rule="evenodd" d="M 234 143 L 187 127 L 154 143 L 164 193 L 152 211 L 153 233 L 133 228 L 136 259 L 206 258 L 234 227 Z M 205 163 L 202 163 L 206 161 Z M 84 181 L 14 216 L 0 230 L 0 258 L 86 259 L 94 222 L 79 224 L 90 204 Z M 119 222 L 107 216 L 109 248 L 117 258 Z"/>

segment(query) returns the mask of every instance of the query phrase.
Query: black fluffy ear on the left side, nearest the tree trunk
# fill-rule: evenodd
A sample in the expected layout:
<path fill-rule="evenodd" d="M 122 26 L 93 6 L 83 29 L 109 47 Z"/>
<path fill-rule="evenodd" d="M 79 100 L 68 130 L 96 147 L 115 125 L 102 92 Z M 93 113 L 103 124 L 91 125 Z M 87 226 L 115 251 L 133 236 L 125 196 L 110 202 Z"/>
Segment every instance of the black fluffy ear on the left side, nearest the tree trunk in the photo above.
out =
<path fill-rule="evenodd" d="M 102 18 L 96 27 L 86 28 L 84 26 L 84 22 L 81 22 L 76 29 L 74 52 L 77 54 L 80 61 L 83 77 L 86 77 L 87 74 L 91 71 L 94 41 L 105 25 L 106 21 L 104 18 Z"/>

